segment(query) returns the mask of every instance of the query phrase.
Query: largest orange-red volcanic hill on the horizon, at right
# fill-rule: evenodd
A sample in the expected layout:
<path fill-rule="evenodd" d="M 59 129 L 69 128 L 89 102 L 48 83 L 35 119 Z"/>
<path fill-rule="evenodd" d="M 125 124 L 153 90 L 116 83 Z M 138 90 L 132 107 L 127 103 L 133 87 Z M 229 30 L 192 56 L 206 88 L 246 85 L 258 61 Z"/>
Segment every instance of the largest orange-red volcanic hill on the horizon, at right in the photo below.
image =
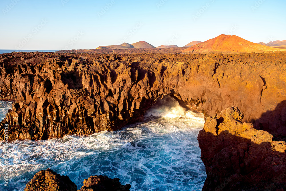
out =
<path fill-rule="evenodd" d="M 281 50 L 253 43 L 235 35 L 219 35 L 218 37 L 189 47 L 183 50 L 183 52 L 266 52 Z"/>

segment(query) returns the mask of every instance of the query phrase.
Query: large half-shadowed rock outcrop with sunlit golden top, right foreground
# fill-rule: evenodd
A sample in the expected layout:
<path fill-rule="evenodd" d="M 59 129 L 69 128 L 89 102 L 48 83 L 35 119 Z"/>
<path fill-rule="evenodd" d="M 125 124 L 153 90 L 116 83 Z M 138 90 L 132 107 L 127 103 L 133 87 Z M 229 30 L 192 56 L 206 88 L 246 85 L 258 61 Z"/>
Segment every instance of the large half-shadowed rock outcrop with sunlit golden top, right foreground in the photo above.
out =
<path fill-rule="evenodd" d="M 208 117 L 198 135 L 206 190 L 285 190 L 286 142 L 242 123 L 238 108 Z"/>

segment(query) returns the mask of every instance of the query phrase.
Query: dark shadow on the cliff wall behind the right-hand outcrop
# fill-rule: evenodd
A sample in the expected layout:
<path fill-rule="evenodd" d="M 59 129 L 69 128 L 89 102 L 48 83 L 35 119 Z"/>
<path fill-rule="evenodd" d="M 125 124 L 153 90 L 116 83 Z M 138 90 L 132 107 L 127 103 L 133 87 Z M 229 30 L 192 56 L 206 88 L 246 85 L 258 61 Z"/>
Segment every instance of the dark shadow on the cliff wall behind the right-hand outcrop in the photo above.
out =
<path fill-rule="evenodd" d="M 286 100 L 277 104 L 273 111 L 261 114 L 257 120 L 251 120 L 256 129 L 264 130 L 275 137 L 286 138 Z"/>

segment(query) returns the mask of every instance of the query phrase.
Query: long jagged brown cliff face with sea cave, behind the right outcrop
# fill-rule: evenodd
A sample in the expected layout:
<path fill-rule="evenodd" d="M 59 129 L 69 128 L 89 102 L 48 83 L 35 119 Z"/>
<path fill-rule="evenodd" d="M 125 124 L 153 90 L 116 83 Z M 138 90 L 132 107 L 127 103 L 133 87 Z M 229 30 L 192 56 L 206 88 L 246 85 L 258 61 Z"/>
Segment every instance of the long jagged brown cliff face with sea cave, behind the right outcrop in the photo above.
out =
<path fill-rule="evenodd" d="M 206 117 L 236 106 L 243 122 L 285 136 L 285 55 L 3 54 L 1 99 L 14 103 L 1 139 L 4 122 L 9 141 L 117 130 L 165 95 Z"/>

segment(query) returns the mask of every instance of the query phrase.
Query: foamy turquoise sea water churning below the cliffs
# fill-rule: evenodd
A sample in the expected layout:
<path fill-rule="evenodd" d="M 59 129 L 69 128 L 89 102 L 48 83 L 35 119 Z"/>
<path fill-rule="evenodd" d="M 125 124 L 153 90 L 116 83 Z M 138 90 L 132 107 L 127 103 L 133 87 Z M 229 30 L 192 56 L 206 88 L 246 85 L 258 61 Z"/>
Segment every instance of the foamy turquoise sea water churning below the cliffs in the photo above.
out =
<path fill-rule="evenodd" d="M 11 102 L 0 102 L 0 107 L 3 119 Z M 9 150 L 3 150 L 1 143 L 0 166 L 4 165 L 3 154 L 9 154 L 10 182 L 8 188 L 4 186 L 4 170 L 0 168 L 0 190 L 22 191 L 35 173 L 47 168 L 69 176 L 78 189 L 85 178 L 106 175 L 131 184 L 134 191 L 201 190 L 206 172 L 197 135 L 203 128 L 203 116 L 186 112 L 168 100 L 151 108 L 144 119 L 116 132 L 16 140 L 9 144 Z"/>

